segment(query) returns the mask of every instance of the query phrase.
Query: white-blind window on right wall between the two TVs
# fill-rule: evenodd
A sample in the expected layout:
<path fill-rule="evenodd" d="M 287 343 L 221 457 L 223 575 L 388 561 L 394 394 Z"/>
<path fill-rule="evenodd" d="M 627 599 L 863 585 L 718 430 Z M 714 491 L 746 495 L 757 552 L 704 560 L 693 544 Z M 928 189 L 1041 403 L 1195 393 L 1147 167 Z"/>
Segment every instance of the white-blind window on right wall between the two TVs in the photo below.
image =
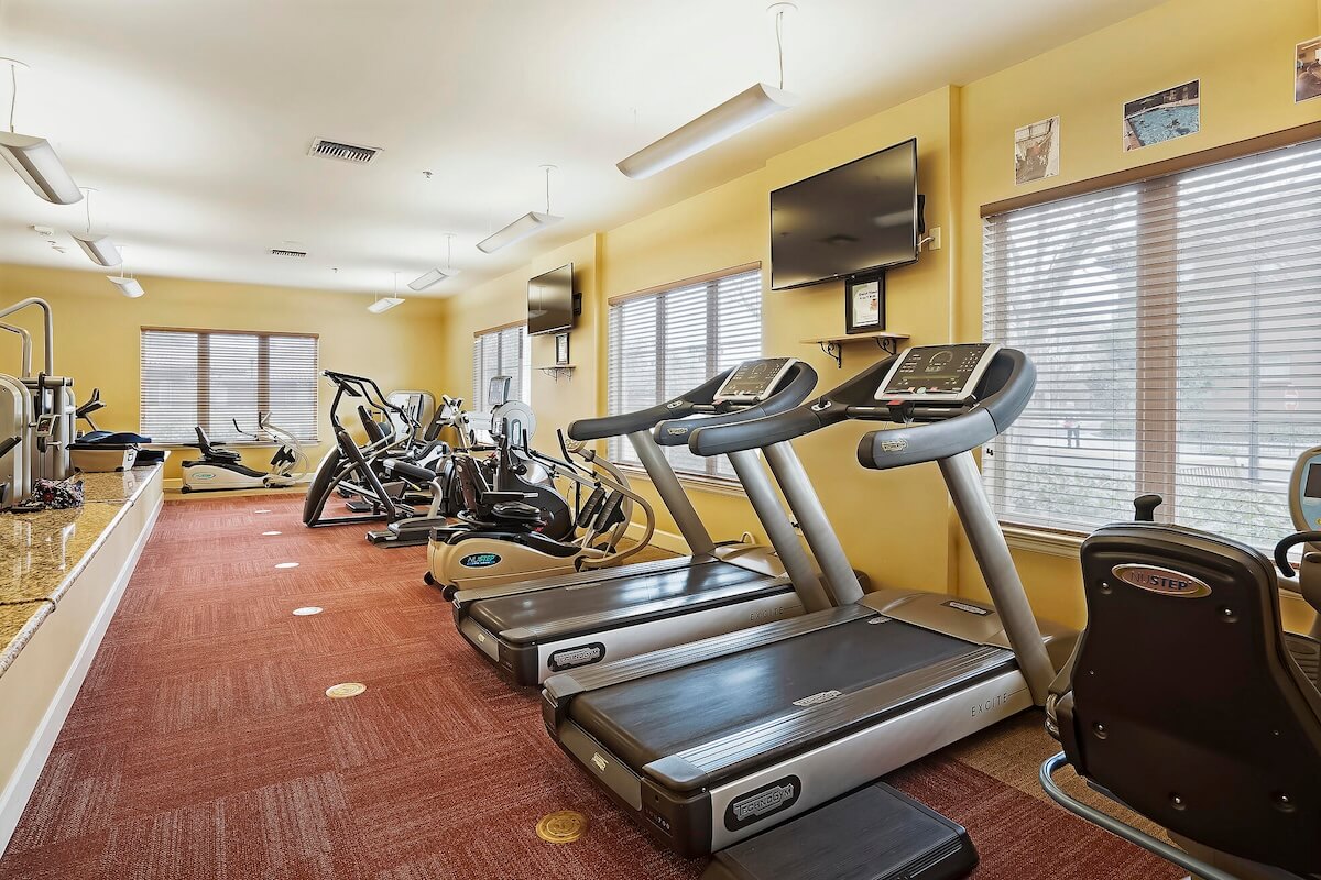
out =
<path fill-rule="evenodd" d="M 610 413 L 670 400 L 761 355 L 761 269 L 683 282 L 610 303 Z M 733 479 L 724 455 L 699 458 L 667 446 L 680 474 Z M 625 438 L 610 439 L 610 458 L 641 464 Z"/>

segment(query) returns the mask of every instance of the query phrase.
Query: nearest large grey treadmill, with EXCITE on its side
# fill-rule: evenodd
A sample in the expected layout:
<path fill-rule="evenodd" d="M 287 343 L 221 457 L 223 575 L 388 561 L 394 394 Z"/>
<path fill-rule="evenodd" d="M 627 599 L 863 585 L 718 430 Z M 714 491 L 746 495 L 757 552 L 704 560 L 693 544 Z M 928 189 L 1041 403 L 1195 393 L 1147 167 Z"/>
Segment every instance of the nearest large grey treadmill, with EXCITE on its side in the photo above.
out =
<path fill-rule="evenodd" d="M 881 590 L 552 676 L 542 706 L 551 736 L 662 844 L 700 856 L 1042 705 L 1077 635 L 1038 629 L 972 458 L 1021 414 L 1034 383 L 1018 351 L 918 347 L 794 410 L 692 431 L 690 449 L 715 455 L 844 421 L 896 424 L 863 437 L 859 462 L 939 464 L 992 603 Z M 828 522 L 794 509 L 824 565 L 838 546 Z"/>

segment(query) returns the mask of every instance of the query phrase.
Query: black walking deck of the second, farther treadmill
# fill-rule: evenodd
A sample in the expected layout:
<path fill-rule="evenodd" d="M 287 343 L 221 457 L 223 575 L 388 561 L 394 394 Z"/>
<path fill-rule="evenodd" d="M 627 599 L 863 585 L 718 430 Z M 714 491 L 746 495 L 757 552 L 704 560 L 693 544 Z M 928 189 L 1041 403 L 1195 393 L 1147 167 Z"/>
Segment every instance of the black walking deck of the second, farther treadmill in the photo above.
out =
<path fill-rule="evenodd" d="M 785 578 L 771 578 L 727 562 L 711 562 L 635 578 L 481 599 L 469 607 L 469 616 L 489 632 L 498 633 L 503 641 L 522 645 L 571 639 L 791 590 Z"/>

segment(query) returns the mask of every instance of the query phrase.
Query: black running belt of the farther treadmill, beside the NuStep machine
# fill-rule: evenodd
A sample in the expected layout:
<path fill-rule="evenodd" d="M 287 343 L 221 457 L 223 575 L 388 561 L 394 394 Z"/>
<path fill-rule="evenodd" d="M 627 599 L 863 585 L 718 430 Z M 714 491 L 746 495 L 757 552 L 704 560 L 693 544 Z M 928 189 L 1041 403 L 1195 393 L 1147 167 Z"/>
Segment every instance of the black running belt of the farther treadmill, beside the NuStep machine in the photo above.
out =
<path fill-rule="evenodd" d="M 658 600 L 701 599 L 704 594 L 709 596 L 715 591 L 724 591 L 731 596 L 750 594 L 765 588 L 773 581 L 775 578 L 757 571 L 715 562 L 638 578 L 588 582 L 583 586 L 482 599 L 473 603 L 472 617 L 495 633 L 509 629 L 539 629 L 556 620 L 613 611 L 626 616 L 630 608 Z"/>

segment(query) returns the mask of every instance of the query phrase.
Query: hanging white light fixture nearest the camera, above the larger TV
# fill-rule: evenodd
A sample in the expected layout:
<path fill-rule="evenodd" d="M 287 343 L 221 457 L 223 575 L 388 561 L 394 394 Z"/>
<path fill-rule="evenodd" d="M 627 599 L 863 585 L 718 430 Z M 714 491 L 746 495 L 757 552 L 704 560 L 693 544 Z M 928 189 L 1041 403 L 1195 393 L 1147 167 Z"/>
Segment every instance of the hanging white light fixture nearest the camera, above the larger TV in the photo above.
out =
<path fill-rule="evenodd" d="M 757 83 L 719 107 L 708 110 L 691 123 L 680 125 L 660 140 L 643 146 L 633 156 L 618 162 L 616 168 L 625 177 L 635 181 L 651 177 L 672 165 L 678 165 L 686 158 L 696 156 L 704 149 L 733 137 L 768 116 L 774 116 L 793 107 L 798 99 L 785 91 L 785 44 L 782 28 L 785 13 L 797 8 L 791 3 L 775 3 L 768 9 L 775 20 L 775 49 L 779 58 L 778 87 Z"/>

